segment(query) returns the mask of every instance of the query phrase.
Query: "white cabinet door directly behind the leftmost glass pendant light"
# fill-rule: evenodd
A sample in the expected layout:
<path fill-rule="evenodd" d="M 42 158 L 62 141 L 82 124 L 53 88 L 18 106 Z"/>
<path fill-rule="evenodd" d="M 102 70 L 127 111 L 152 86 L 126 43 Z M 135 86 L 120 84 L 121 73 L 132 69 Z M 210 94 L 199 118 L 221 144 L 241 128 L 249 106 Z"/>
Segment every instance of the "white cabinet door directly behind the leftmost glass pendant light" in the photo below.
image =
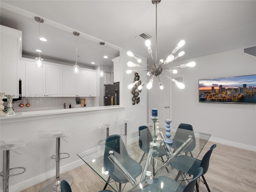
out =
<path fill-rule="evenodd" d="M 26 97 L 39 97 L 45 95 L 45 65 L 43 65 L 43 68 L 36 68 L 35 62 L 26 62 L 25 73 Z"/>

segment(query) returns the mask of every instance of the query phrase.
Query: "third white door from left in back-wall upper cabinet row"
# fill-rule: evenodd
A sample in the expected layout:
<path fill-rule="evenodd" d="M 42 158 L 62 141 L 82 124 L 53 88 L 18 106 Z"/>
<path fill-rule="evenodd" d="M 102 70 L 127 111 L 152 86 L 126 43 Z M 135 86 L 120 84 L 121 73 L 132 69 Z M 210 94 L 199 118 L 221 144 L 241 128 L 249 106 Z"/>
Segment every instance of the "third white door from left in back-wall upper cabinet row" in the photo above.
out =
<path fill-rule="evenodd" d="M 63 97 L 77 96 L 77 81 L 73 67 L 63 67 Z"/>

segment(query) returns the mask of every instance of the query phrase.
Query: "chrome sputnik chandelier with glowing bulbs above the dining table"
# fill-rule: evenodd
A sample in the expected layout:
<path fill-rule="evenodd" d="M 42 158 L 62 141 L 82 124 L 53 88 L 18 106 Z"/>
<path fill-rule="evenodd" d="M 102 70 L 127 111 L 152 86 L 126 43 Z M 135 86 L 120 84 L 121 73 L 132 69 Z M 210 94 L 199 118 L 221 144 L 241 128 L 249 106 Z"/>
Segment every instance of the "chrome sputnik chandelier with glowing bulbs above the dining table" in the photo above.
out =
<path fill-rule="evenodd" d="M 157 62 L 157 4 L 159 4 L 161 2 L 161 0 L 152 0 L 152 4 L 156 5 L 156 62 Z M 132 52 L 128 51 L 127 55 L 136 59 L 138 63 L 144 64 L 146 66 L 140 66 L 139 64 L 135 64 L 131 61 L 129 61 L 127 63 L 128 67 L 142 67 L 142 68 L 146 68 L 146 70 L 139 70 L 139 71 L 148 71 L 147 75 L 144 77 L 146 78 L 146 81 L 144 81 L 143 83 L 141 83 L 141 80 L 143 80 L 144 78 L 142 78 L 141 80 L 136 80 L 134 81 L 132 84 L 128 85 L 128 89 L 132 89 L 135 85 L 138 85 L 138 90 L 141 90 L 142 87 L 144 86 L 144 84 L 150 79 L 150 77 L 152 76 L 152 78 L 149 80 L 148 84 L 146 85 L 147 89 L 151 89 L 152 88 L 152 84 L 153 84 L 153 78 L 154 76 L 158 77 L 159 80 L 159 87 L 160 89 L 164 89 L 164 86 L 162 85 L 162 82 L 160 81 L 159 75 L 162 74 L 164 76 L 166 76 L 167 78 L 169 78 L 170 80 L 172 80 L 173 83 L 176 84 L 176 86 L 178 86 L 178 88 L 180 89 L 184 89 L 185 85 L 181 82 L 178 82 L 176 79 L 172 79 L 170 77 L 168 77 L 167 75 L 163 74 L 163 71 L 169 72 L 169 73 L 177 73 L 176 69 L 173 68 L 184 68 L 184 67 L 194 67 L 196 65 L 195 62 L 189 62 L 187 64 L 181 64 L 180 66 L 174 66 L 174 67 L 168 67 L 168 68 L 163 68 L 166 64 L 168 64 L 169 62 L 172 62 L 173 60 L 176 60 L 177 58 L 183 56 L 185 54 L 184 51 L 179 52 L 176 56 L 174 56 L 174 54 L 185 44 L 185 40 L 180 40 L 180 42 L 178 43 L 178 45 L 174 48 L 174 50 L 172 51 L 172 53 L 166 58 L 166 60 L 160 60 L 158 63 L 154 62 L 154 58 L 152 56 L 152 49 L 151 49 L 151 42 L 149 39 L 147 39 L 145 41 L 145 45 L 148 48 L 148 53 L 150 54 L 154 65 L 150 66 L 148 64 L 146 64 L 146 62 L 142 61 L 140 58 L 138 58 L 137 56 L 135 56 Z M 126 74 L 131 74 L 133 72 L 138 72 L 137 70 L 126 70 Z"/>

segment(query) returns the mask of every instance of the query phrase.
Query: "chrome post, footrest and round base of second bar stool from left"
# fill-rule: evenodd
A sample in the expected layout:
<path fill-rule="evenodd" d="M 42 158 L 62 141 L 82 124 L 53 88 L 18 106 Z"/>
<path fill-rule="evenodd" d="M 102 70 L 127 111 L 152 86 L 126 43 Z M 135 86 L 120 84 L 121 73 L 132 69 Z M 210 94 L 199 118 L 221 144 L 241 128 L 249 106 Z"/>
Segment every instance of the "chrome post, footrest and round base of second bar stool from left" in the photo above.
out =
<path fill-rule="evenodd" d="M 56 138 L 56 154 L 53 155 L 51 158 L 56 159 L 56 176 L 55 178 L 50 178 L 47 180 L 40 188 L 40 192 L 61 192 L 60 190 L 60 183 L 62 180 L 66 180 L 69 185 L 73 183 L 73 177 L 69 174 L 61 174 L 60 175 L 60 160 L 63 158 L 68 158 L 70 155 L 68 154 L 67 157 L 60 158 L 60 154 L 68 154 L 68 153 L 60 153 L 60 138 Z M 54 158 L 55 157 L 55 158 Z"/>

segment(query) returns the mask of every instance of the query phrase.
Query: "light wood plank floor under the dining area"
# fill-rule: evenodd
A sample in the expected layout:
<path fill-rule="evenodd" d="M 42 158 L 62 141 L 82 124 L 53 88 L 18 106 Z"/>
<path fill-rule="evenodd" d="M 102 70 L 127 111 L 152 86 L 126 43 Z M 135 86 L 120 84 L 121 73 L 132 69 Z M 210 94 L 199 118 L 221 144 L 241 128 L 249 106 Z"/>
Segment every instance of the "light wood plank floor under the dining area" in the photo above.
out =
<path fill-rule="evenodd" d="M 199 159 L 214 144 L 208 141 Z M 217 144 L 210 158 L 208 172 L 204 175 L 211 192 L 256 192 L 256 152 Z M 104 181 L 86 164 L 66 172 L 74 177 L 72 192 L 98 192 Z M 21 192 L 38 192 L 39 183 Z M 112 190 L 107 187 L 108 190 Z M 200 192 L 207 192 L 200 182 Z"/>

